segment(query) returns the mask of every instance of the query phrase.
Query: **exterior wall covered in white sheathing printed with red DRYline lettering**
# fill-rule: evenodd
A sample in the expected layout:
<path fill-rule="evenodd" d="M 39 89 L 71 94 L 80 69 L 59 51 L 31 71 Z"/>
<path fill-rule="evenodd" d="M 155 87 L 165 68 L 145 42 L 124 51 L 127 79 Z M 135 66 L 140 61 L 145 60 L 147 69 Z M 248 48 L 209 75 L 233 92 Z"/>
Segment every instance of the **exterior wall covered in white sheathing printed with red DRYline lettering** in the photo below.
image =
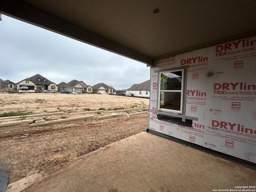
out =
<path fill-rule="evenodd" d="M 256 163 L 255 63 L 256 36 L 153 60 L 149 129 Z M 157 116 L 164 113 L 159 74 L 181 67 L 187 70 L 183 115 L 193 119 L 191 127 Z"/>

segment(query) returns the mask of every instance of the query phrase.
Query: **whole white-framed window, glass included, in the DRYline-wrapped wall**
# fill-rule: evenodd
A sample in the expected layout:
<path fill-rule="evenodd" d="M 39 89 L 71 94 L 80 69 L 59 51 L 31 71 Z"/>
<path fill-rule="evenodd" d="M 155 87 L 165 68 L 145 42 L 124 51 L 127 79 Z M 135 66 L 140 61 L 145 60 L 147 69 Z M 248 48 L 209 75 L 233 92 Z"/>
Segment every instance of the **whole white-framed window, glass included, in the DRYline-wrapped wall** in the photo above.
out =
<path fill-rule="evenodd" d="M 158 110 L 182 113 L 184 69 L 160 73 Z"/>

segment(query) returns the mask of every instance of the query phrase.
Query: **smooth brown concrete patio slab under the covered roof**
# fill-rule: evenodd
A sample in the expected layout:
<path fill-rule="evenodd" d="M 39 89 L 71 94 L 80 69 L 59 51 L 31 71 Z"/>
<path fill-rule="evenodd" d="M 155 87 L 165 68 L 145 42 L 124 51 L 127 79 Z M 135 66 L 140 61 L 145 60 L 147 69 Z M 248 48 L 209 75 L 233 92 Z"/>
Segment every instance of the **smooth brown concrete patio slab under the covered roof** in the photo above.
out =
<path fill-rule="evenodd" d="M 25 191 L 213 191 L 255 185 L 256 171 L 146 132 L 77 158 Z"/>

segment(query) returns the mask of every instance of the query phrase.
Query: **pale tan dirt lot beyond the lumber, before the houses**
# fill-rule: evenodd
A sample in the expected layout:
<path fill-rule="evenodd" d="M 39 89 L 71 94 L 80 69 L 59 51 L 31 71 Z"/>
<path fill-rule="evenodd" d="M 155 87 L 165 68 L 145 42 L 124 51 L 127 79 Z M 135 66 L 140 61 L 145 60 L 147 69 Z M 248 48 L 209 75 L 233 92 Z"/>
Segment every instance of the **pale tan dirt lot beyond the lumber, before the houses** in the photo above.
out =
<path fill-rule="evenodd" d="M 122 97 L 107 94 L 61 93 L 0 93 L 0 113 L 26 110 L 32 113 L 66 111 L 82 112 L 84 109 L 148 107 L 149 99 Z"/>

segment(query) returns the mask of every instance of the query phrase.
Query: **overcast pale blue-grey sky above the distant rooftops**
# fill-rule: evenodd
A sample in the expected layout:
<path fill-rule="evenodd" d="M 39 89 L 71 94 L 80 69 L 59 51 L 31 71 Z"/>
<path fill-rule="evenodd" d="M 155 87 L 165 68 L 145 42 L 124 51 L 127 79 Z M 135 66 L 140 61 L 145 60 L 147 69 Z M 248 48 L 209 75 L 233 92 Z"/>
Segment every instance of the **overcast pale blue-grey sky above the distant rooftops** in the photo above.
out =
<path fill-rule="evenodd" d="M 115 89 L 149 79 L 144 63 L 2 15 L 0 78 L 17 83 L 38 73 L 57 84 L 77 79 Z"/>

